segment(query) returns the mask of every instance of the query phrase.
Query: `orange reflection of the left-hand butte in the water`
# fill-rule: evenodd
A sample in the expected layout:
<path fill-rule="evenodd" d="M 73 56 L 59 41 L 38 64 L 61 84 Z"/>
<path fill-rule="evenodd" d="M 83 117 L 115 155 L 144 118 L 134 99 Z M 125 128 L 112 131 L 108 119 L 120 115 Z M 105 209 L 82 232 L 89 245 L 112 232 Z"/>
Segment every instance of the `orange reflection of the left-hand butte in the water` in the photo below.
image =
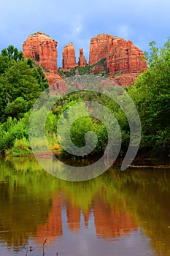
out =
<path fill-rule="evenodd" d="M 62 199 L 55 195 L 53 200 L 53 208 L 50 212 L 47 223 L 45 225 L 39 225 L 37 228 L 36 242 L 37 244 L 43 244 L 45 238 L 47 238 L 47 243 L 55 241 L 56 237 L 62 236 L 62 219 L 61 219 L 61 206 Z"/>

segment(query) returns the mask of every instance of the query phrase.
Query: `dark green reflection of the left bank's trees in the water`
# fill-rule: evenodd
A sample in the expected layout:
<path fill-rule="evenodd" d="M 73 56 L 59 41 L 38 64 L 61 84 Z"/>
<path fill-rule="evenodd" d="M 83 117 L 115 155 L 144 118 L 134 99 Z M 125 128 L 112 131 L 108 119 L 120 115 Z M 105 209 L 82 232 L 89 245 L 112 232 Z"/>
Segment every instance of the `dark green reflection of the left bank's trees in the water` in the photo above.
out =
<path fill-rule="evenodd" d="M 40 194 L 37 177 L 41 174 L 37 172 L 41 170 L 34 172 L 30 163 L 26 166 L 16 161 L 15 166 L 1 160 L 0 239 L 15 251 L 35 235 L 37 223 L 45 222 L 52 206 L 45 195 L 47 192 Z"/>

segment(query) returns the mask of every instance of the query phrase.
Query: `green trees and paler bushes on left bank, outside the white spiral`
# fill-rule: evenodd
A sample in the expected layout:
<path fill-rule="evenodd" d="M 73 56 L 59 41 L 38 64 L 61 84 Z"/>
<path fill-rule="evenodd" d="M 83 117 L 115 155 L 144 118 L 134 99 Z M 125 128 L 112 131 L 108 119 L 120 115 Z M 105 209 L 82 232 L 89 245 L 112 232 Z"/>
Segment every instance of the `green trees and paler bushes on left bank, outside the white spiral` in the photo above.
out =
<path fill-rule="evenodd" d="M 17 140 L 28 144 L 28 111 L 39 94 L 48 87 L 41 67 L 13 45 L 0 55 L 0 153 Z M 30 151 L 30 150 L 29 150 Z"/>

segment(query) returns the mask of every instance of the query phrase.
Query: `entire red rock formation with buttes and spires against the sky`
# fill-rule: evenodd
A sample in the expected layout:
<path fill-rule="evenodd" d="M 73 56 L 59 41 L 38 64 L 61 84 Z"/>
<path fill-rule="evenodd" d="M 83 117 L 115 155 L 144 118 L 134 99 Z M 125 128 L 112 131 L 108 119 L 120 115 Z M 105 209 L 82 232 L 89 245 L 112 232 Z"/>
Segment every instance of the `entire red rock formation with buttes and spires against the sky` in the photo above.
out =
<path fill-rule="evenodd" d="M 79 50 L 79 61 L 76 62 L 74 45 L 71 42 L 63 48 L 61 78 L 57 68 L 57 44 L 57 41 L 42 32 L 31 34 L 23 43 L 23 56 L 31 57 L 36 64 L 42 66 L 50 85 L 66 78 L 68 72 L 73 72 L 71 69 L 79 75 L 78 67 L 87 66 L 82 48 Z M 147 62 L 144 53 L 130 40 L 125 41 L 123 38 L 112 37 L 110 34 L 98 34 L 90 40 L 88 64 L 90 74 L 104 76 L 120 86 L 130 86 L 146 69 Z M 62 90 L 61 86 L 60 91 Z"/>

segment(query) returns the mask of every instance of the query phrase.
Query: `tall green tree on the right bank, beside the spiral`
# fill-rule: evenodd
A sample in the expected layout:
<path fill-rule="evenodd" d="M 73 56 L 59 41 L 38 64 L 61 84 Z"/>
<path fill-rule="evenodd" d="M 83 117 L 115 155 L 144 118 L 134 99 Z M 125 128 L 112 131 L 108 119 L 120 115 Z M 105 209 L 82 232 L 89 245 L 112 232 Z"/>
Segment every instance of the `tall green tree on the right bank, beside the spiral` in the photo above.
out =
<path fill-rule="evenodd" d="M 129 90 L 136 103 L 142 122 L 142 143 L 161 148 L 169 154 L 170 148 L 170 39 L 163 48 L 150 44 L 150 67 L 138 77 Z"/>

